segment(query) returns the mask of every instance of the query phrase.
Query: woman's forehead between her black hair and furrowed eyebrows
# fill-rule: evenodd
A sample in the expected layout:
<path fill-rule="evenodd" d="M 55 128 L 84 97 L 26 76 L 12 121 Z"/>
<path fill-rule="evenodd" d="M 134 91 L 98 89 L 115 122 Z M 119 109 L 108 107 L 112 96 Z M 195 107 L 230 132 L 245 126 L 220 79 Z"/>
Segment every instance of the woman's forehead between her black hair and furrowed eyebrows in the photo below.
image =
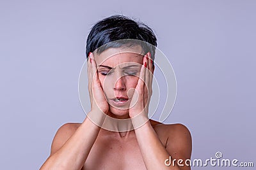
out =
<path fill-rule="evenodd" d="M 129 65 L 132 62 L 142 64 L 143 51 L 141 46 L 108 48 L 100 55 L 95 54 L 94 58 L 97 66 L 116 67 L 118 65 Z"/>

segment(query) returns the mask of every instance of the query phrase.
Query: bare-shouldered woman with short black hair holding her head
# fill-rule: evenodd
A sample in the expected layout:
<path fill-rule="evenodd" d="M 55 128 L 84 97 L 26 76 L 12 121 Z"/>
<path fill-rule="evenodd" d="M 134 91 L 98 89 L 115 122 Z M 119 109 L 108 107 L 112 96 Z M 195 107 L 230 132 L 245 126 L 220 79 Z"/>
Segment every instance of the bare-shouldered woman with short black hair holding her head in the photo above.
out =
<path fill-rule="evenodd" d="M 58 129 L 41 169 L 190 169 L 188 129 L 148 119 L 155 57 L 148 43 L 157 45 L 152 30 L 124 16 L 93 26 L 86 42 L 91 110 L 83 123 Z"/>

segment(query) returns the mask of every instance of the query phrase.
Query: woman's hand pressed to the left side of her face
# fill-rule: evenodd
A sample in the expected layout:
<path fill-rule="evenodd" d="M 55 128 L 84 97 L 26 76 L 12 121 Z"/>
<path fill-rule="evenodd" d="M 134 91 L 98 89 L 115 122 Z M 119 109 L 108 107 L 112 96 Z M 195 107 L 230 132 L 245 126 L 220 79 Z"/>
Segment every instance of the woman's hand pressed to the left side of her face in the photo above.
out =
<path fill-rule="evenodd" d="M 100 84 L 96 62 L 92 52 L 90 52 L 88 57 L 88 90 L 90 94 L 91 111 L 101 111 L 107 114 L 109 105 Z"/>

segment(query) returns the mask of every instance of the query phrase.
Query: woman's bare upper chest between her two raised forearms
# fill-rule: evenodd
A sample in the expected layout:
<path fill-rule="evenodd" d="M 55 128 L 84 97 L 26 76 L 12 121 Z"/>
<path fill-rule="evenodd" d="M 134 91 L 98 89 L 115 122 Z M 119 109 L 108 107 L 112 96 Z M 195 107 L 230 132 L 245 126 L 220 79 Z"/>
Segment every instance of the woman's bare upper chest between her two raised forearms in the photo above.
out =
<path fill-rule="evenodd" d="M 98 139 L 83 169 L 146 169 L 136 138 L 131 140 Z"/>

